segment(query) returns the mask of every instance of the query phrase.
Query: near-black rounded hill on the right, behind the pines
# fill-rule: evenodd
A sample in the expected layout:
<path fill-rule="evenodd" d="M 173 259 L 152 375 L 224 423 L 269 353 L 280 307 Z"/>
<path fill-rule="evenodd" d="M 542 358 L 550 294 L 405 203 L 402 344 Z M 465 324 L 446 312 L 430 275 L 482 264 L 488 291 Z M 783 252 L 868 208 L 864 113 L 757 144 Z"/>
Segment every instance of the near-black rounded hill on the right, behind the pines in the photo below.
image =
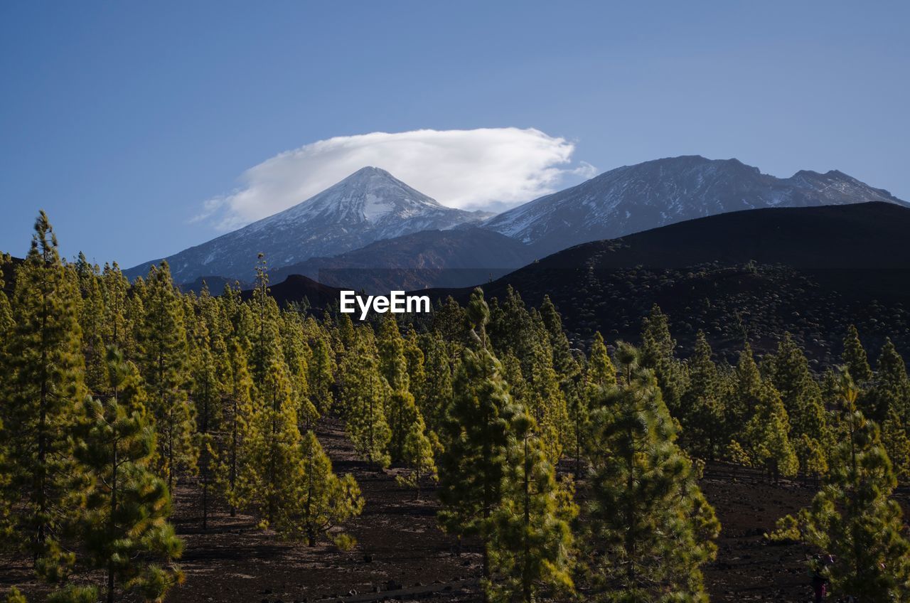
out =
<path fill-rule="evenodd" d="M 683 348 L 703 330 L 731 361 L 744 340 L 767 353 L 789 331 L 836 363 L 851 322 L 872 358 L 885 337 L 910 358 L 907 232 L 910 209 L 894 203 L 736 211 L 584 243 L 483 289 L 531 305 L 549 294 L 581 346 L 595 331 L 637 341 L 656 303 Z M 423 292 L 464 302 L 470 288 Z"/>

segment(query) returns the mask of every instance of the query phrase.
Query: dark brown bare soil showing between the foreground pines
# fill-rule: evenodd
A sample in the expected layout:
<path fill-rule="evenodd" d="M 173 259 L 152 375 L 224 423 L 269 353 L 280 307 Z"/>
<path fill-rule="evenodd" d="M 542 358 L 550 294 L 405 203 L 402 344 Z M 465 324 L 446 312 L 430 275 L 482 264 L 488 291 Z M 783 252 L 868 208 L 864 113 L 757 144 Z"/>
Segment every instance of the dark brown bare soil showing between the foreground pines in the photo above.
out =
<path fill-rule="evenodd" d="M 292 603 L 479 599 L 480 551 L 455 542 L 436 524 L 433 493 L 417 500 L 395 481 L 354 458 L 340 424 L 328 421 L 319 440 L 335 471 L 352 473 L 366 498 L 362 515 L 346 527 L 357 538 L 351 551 L 330 544 L 306 547 L 278 540 L 251 516 L 217 507 L 202 530 L 201 496 L 179 485 L 173 517 L 185 541 L 186 582 L 167 603 Z M 778 517 L 795 513 L 814 495 L 811 485 L 771 485 L 761 475 L 710 465 L 702 483 L 723 524 L 717 560 L 705 569 L 713 601 L 811 601 L 801 545 L 773 546 L 762 535 Z M 0 592 L 27 579 L 27 563 L 0 557 Z M 34 585 L 23 585 L 34 592 Z M 582 594 L 583 595 L 583 594 Z"/>

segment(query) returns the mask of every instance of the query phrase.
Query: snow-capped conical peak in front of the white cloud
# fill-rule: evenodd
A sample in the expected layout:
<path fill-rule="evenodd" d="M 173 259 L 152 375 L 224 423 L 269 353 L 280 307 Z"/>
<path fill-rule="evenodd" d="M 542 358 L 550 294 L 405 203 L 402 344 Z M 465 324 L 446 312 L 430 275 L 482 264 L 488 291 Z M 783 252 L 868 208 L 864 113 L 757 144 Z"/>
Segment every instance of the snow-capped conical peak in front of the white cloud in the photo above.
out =
<path fill-rule="evenodd" d="M 217 275 L 250 280 L 258 253 L 279 268 L 359 249 L 419 230 L 447 230 L 489 214 L 440 205 L 379 168 L 363 168 L 318 195 L 242 229 L 166 258 L 177 283 Z M 145 274 L 147 261 L 125 271 Z"/>

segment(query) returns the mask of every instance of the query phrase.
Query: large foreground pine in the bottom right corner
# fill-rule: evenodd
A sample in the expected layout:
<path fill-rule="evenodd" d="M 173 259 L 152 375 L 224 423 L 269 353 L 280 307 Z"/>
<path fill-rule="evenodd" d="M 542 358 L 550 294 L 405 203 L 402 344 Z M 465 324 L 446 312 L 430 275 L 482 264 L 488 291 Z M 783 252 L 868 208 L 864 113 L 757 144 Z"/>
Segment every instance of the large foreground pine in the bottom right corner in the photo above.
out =
<path fill-rule="evenodd" d="M 910 541 L 897 485 L 878 426 L 856 410 L 858 394 L 844 375 L 843 432 L 831 471 L 805 514 L 810 544 L 834 556 L 832 591 L 861 601 L 910 598 Z"/>

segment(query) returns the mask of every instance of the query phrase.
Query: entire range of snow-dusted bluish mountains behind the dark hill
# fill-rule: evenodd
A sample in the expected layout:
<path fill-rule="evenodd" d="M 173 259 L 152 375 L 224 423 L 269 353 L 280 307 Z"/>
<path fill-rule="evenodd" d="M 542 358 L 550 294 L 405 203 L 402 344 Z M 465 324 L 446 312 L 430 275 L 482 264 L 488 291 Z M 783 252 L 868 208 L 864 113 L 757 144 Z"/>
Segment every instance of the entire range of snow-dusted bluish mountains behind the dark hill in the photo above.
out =
<path fill-rule="evenodd" d="M 174 280 L 190 289 L 200 287 L 201 279 L 207 279 L 210 288 L 224 281 L 250 281 L 260 252 L 279 278 L 295 272 L 317 278 L 319 270 L 331 269 L 339 277 L 333 284 L 353 288 L 457 286 L 462 281 L 444 278 L 454 272 L 443 271 L 517 268 L 515 261 L 531 261 L 582 242 L 731 211 L 869 201 L 907 207 L 888 191 L 836 170 L 802 170 L 779 179 L 737 159 L 683 156 L 612 169 L 487 219 L 489 214 L 482 212 L 446 208 L 385 170 L 363 168 L 288 210 L 167 261 Z M 478 226 L 500 238 L 478 232 L 440 234 Z M 411 236 L 425 231 L 436 234 Z M 377 244 L 382 241 L 389 242 Z M 157 261 L 140 264 L 126 275 L 145 274 Z M 386 272 L 365 272 L 369 269 Z M 400 272 L 393 275 L 391 270 Z M 346 272 L 339 276 L 339 271 Z M 358 278 L 363 279 L 360 285 Z"/>

